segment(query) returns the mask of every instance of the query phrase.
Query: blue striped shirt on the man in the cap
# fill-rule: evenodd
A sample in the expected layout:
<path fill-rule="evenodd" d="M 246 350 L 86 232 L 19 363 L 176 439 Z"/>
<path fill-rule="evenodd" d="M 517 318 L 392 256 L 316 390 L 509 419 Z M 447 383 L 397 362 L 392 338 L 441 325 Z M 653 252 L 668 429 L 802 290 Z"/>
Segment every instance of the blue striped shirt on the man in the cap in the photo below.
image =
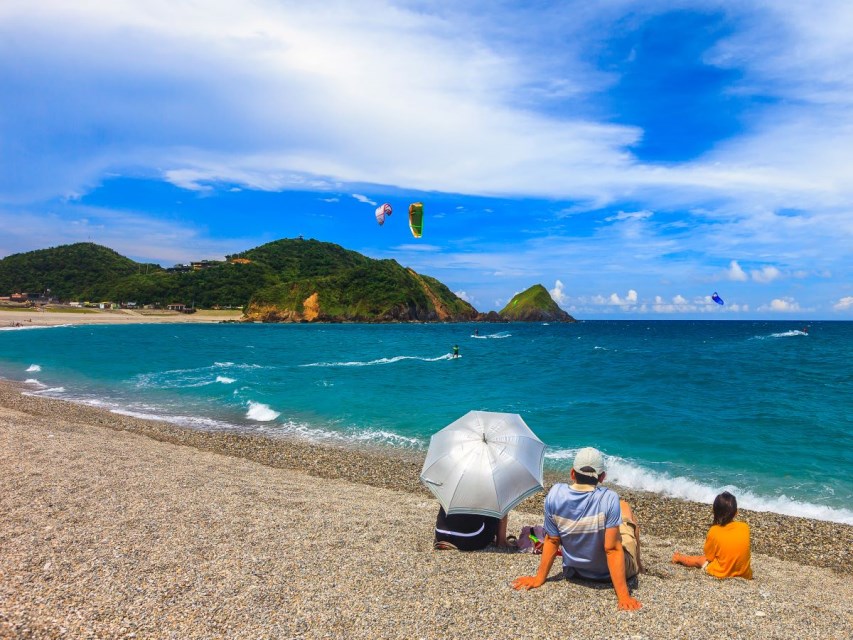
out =
<path fill-rule="evenodd" d="M 584 491 L 555 484 L 545 498 L 545 533 L 559 536 L 567 576 L 609 580 L 604 530 L 620 524 L 619 496 L 602 486 Z"/>

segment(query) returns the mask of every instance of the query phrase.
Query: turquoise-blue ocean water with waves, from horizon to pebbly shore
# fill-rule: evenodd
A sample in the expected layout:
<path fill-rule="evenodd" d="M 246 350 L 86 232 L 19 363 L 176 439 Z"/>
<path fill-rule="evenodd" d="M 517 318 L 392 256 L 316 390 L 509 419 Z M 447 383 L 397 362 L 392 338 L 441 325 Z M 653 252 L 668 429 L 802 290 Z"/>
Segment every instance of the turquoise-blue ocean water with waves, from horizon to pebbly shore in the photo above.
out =
<path fill-rule="evenodd" d="M 166 324 L 0 328 L 31 393 L 193 428 L 425 451 L 519 413 L 565 471 L 853 524 L 853 323 Z M 475 335 L 475 331 L 479 335 Z M 450 356 L 454 344 L 461 357 Z"/>

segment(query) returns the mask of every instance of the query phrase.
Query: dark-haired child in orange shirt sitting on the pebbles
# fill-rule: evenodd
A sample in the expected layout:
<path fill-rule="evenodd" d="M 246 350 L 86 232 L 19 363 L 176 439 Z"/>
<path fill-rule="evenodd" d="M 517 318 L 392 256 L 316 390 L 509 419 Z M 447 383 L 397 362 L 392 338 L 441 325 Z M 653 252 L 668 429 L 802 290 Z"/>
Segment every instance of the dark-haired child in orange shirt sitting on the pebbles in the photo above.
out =
<path fill-rule="evenodd" d="M 723 491 L 714 498 L 714 524 L 705 539 L 704 555 L 674 553 L 673 564 L 699 567 L 715 578 L 751 580 L 749 525 L 733 522 L 736 515 L 737 499 L 728 491 Z"/>

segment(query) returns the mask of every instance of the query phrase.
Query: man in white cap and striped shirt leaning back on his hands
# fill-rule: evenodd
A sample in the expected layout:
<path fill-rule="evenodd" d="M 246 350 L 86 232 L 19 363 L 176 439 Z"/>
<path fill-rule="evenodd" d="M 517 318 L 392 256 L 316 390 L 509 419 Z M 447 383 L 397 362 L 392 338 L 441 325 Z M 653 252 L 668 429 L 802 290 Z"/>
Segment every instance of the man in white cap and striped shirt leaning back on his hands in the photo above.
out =
<path fill-rule="evenodd" d="M 514 589 L 535 589 L 545 583 L 557 550 L 563 547 L 566 578 L 610 581 L 620 609 L 639 609 L 627 579 L 640 570 L 640 539 L 631 507 L 604 481 L 601 452 L 578 451 L 572 465 L 572 484 L 555 484 L 545 498 L 545 543 L 539 572 L 513 581 Z"/>

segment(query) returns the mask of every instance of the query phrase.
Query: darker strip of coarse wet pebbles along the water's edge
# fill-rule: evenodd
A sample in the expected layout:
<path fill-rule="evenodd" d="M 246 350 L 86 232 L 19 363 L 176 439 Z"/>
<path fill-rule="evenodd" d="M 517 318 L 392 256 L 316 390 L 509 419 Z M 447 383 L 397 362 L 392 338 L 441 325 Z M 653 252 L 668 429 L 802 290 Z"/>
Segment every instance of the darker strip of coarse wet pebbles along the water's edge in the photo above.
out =
<path fill-rule="evenodd" d="M 200 451 L 227 455 L 265 466 L 306 473 L 322 479 L 340 479 L 367 486 L 405 491 L 434 500 L 418 477 L 426 452 L 395 449 L 378 444 L 334 445 L 293 437 L 270 437 L 195 429 L 167 421 L 151 420 L 63 400 L 30 394 L 24 383 L 0 378 L 0 407 L 14 406 L 48 418 L 68 404 L 88 424 L 139 435 Z M 26 395 L 24 395 L 26 394 Z M 16 397 L 17 396 L 17 397 Z M 565 474 L 545 471 L 545 491 L 522 501 L 514 511 L 541 523 L 547 490 L 565 482 Z M 701 551 L 711 524 L 711 505 L 672 498 L 648 491 L 605 483 L 627 500 L 641 516 L 649 534 L 671 539 Z M 827 520 L 740 509 L 740 519 L 752 530 L 753 552 L 791 560 L 836 573 L 853 575 L 853 525 Z M 538 519 L 537 519 L 538 518 Z"/>

